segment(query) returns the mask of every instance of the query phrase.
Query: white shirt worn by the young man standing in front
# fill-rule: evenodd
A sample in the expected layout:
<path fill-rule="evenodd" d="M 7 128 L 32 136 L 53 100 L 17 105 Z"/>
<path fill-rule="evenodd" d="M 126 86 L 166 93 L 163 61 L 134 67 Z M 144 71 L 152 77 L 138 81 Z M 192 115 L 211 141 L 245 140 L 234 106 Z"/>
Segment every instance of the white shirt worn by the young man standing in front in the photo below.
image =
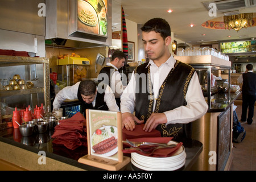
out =
<path fill-rule="evenodd" d="M 165 63 L 160 65 L 160 67 L 158 67 L 154 61 L 150 60 L 147 67 L 151 65 L 150 76 L 154 90 L 159 90 L 168 73 L 172 68 L 174 68 L 175 63 L 176 60 L 172 55 Z M 154 92 L 154 98 L 158 98 L 158 92 Z M 204 99 L 203 92 L 199 83 L 199 78 L 196 72 L 193 74 L 191 81 L 189 82 L 185 100 L 187 101 L 187 105 L 164 112 L 167 117 L 167 125 L 170 123 L 189 123 L 195 121 L 198 118 L 201 118 L 205 113 L 207 113 L 208 104 Z M 129 84 L 123 91 L 121 97 L 121 112 L 133 113 L 134 107 L 136 105 L 135 103 L 135 78 L 133 72 L 133 75 L 129 80 Z M 155 110 L 155 103 L 156 100 L 154 100 L 153 111 Z"/>

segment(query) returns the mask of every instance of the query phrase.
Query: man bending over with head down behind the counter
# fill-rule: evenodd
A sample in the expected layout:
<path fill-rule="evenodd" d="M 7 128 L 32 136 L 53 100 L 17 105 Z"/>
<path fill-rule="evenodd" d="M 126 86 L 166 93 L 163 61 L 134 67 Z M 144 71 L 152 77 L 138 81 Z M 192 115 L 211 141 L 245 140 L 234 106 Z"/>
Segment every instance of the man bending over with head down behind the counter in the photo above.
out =
<path fill-rule="evenodd" d="M 56 94 L 53 101 L 53 109 L 60 108 L 64 100 L 81 101 L 81 113 L 85 116 L 86 109 L 98 109 L 119 111 L 115 96 L 108 85 L 103 86 L 104 89 L 98 88 L 96 82 L 92 80 L 84 80 L 77 82 L 75 85 L 66 86 Z"/>

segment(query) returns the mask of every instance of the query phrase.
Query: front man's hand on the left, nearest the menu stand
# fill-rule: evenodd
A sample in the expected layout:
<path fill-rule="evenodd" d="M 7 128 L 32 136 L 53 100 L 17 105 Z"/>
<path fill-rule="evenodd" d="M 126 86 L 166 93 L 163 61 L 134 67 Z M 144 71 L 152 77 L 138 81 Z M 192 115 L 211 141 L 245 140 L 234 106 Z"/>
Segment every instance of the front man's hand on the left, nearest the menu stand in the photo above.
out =
<path fill-rule="evenodd" d="M 135 129 L 135 122 L 141 124 L 144 121 L 139 120 L 135 115 L 131 113 L 122 113 L 122 129 L 125 127 L 126 130 L 133 131 Z"/>

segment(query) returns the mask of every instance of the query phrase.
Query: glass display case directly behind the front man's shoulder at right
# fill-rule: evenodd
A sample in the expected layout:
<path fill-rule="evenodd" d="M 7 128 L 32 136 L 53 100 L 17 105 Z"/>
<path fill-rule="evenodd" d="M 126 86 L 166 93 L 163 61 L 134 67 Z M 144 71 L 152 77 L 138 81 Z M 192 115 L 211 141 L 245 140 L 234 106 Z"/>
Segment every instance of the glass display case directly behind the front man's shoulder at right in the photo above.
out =
<path fill-rule="evenodd" d="M 231 62 L 212 55 L 176 56 L 175 59 L 195 68 L 208 111 L 224 111 L 230 101 Z M 221 78 L 222 71 L 228 72 L 228 79 Z"/>

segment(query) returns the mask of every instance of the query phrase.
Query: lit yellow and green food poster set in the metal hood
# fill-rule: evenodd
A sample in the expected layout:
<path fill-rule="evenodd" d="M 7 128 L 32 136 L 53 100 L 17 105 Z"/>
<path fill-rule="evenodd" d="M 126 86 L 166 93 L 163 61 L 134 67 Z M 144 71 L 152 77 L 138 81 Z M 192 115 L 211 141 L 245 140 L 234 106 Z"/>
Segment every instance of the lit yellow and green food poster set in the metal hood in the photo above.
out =
<path fill-rule="evenodd" d="M 108 0 L 78 0 L 77 30 L 108 36 Z"/>

